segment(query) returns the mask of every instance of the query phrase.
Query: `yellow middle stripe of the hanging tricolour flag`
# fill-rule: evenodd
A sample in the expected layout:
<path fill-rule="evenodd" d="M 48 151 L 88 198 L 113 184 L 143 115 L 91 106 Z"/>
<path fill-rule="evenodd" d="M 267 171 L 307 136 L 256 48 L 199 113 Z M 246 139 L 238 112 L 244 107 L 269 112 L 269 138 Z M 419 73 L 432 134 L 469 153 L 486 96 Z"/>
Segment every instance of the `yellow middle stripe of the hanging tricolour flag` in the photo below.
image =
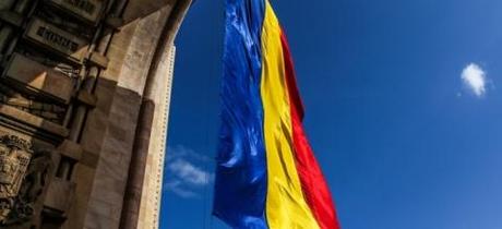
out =
<path fill-rule="evenodd" d="M 262 33 L 262 84 L 268 192 L 266 218 L 271 229 L 318 229 L 307 204 L 292 148 L 280 26 L 268 1 Z"/>

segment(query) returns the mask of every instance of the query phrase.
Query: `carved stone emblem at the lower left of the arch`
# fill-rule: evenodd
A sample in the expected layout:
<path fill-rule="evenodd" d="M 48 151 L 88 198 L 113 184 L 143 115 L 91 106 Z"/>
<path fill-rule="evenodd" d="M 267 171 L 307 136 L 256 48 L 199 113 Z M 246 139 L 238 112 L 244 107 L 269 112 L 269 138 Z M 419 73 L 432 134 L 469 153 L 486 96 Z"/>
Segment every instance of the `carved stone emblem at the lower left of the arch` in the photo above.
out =
<path fill-rule="evenodd" d="M 14 135 L 0 136 L 0 227 L 29 220 L 46 185 L 48 153 Z"/>

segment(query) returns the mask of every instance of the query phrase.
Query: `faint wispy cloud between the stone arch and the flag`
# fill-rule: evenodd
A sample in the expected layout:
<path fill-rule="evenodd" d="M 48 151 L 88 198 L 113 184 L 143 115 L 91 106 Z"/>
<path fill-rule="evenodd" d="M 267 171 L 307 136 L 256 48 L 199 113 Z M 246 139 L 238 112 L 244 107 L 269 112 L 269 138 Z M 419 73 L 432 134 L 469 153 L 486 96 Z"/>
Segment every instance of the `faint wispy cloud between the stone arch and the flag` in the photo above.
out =
<path fill-rule="evenodd" d="M 214 174 L 200 165 L 211 159 L 182 145 L 167 149 L 166 181 L 164 190 L 181 197 L 200 197 L 200 192 L 214 180 Z"/>

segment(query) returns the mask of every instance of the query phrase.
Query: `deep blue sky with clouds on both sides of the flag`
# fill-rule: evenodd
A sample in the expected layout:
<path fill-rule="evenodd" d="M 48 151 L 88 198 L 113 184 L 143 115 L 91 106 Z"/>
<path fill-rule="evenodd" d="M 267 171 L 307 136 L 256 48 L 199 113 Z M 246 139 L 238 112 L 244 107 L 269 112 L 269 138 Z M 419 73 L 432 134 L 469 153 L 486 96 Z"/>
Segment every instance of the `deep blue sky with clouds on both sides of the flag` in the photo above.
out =
<path fill-rule="evenodd" d="M 344 229 L 502 228 L 502 1 L 275 0 Z M 211 217 L 223 1 L 177 38 L 162 228 Z"/>

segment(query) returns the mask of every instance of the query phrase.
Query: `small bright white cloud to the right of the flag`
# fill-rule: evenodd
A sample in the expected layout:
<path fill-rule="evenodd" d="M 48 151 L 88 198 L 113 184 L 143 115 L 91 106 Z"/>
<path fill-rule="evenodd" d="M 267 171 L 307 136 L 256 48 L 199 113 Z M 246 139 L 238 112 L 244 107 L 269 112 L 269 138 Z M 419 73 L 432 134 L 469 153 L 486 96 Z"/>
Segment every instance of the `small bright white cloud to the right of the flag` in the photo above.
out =
<path fill-rule="evenodd" d="M 462 81 L 477 97 L 487 93 L 487 73 L 476 63 L 469 63 L 464 68 Z"/>

